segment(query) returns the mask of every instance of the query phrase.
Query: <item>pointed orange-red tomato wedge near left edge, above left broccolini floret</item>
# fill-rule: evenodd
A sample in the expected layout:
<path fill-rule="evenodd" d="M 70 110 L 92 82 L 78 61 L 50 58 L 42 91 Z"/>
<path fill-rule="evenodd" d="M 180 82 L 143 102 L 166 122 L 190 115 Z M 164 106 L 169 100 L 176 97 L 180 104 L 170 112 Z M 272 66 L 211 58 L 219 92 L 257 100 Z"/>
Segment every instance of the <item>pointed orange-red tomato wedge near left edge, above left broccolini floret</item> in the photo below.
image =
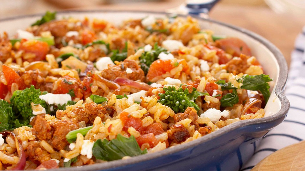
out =
<path fill-rule="evenodd" d="M 16 83 L 20 90 L 23 90 L 27 87 L 20 75 L 18 75 L 17 72 L 9 66 L 2 65 L 2 72 L 7 81 L 8 90 L 11 90 L 13 83 Z"/>

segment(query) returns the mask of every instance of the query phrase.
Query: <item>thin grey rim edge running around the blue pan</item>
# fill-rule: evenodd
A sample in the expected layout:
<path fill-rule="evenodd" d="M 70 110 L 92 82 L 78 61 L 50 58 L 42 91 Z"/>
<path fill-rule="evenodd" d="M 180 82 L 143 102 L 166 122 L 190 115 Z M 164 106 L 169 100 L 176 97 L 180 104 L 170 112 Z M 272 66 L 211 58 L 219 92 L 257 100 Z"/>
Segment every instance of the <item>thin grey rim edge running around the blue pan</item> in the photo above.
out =
<path fill-rule="evenodd" d="M 129 13 L 147 13 L 147 14 L 163 14 L 167 15 L 168 13 L 166 12 L 156 12 L 156 11 L 145 11 L 145 10 L 104 10 L 104 9 L 97 9 L 97 10 L 63 10 L 63 11 L 58 11 L 58 14 L 69 14 L 69 13 L 88 13 L 88 12 L 113 12 L 113 13 L 120 13 L 120 12 L 129 12 Z M 36 14 L 30 14 L 30 15 L 24 15 L 24 16 L 13 16 L 13 17 L 8 17 L 8 18 L 3 18 L 0 19 L 0 23 L 3 21 L 9 21 L 9 20 L 15 20 L 15 19 L 22 19 L 22 18 L 29 18 L 29 17 L 38 17 L 42 16 L 44 13 L 36 13 Z M 188 15 L 178 15 L 181 17 L 187 17 Z M 280 110 L 273 114 L 272 116 L 268 117 L 263 117 L 259 119 L 253 119 L 253 120 L 241 120 L 239 122 L 235 122 L 233 124 L 230 124 L 222 129 L 219 129 L 216 132 L 213 132 L 213 134 L 207 134 L 202 138 L 196 139 L 194 141 L 178 145 L 175 148 L 167 148 L 165 150 L 162 150 L 157 153 L 150 153 L 150 154 L 145 154 L 145 155 L 139 155 L 139 156 L 134 156 L 130 159 L 127 160 L 114 160 L 110 162 L 105 162 L 105 163 L 96 163 L 88 166 L 81 166 L 81 167 L 68 167 L 68 168 L 59 168 L 59 169 L 49 169 L 53 171 L 59 171 L 59 170 L 65 170 L 65 171 L 91 171 L 91 170 L 102 170 L 102 169 L 111 169 L 115 167 L 120 167 L 120 166 L 125 166 L 125 165 L 131 165 L 131 164 L 136 164 L 144 161 L 148 161 L 151 159 L 155 159 L 158 157 L 161 157 L 163 155 L 170 155 L 176 152 L 181 152 L 185 149 L 195 147 L 197 145 L 200 145 L 204 142 L 210 141 L 215 137 L 222 136 L 223 134 L 229 133 L 231 131 L 234 131 L 235 129 L 238 129 L 240 127 L 245 127 L 245 126 L 250 126 L 250 125 L 255 125 L 255 124 L 263 124 L 263 123 L 268 123 L 272 122 L 278 119 L 281 119 L 282 117 L 285 117 L 286 113 L 289 110 L 290 103 L 286 96 L 283 93 L 283 89 L 285 87 L 286 81 L 287 81 L 287 76 L 288 76 L 288 67 L 286 60 L 281 53 L 281 51 L 274 45 L 272 44 L 269 40 L 265 39 L 264 37 L 258 35 L 257 33 L 254 33 L 252 31 L 249 31 L 247 29 L 244 29 L 242 27 L 238 26 L 233 26 L 231 24 L 223 23 L 217 20 L 213 19 L 205 19 L 205 18 L 200 18 L 199 16 L 194 16 L 191 15 L 192 17 L 198 19 L 198 20 L 203 20 L 203 21 L 208 21 L 212 23 L 216 23 L 221 26 L 228 27 L 230 29 L 236 30 L 238 32 L 244 33 L 247 36 L 251 37 L 254 40 L 259 41 L 261 44 L 263 44 L 265 47 L 267 47 L 268 50 L 271 51 L 272 54 L 274 54 L 274 57 L 276 58 L 276 62 L 279 65 L 279 73 L 278 73 L 278 79 L 277 79 L 277 84 L 274 87 L 274 93 L 278 97 L 278 99 L 281 102 L 281 108 Z"/>

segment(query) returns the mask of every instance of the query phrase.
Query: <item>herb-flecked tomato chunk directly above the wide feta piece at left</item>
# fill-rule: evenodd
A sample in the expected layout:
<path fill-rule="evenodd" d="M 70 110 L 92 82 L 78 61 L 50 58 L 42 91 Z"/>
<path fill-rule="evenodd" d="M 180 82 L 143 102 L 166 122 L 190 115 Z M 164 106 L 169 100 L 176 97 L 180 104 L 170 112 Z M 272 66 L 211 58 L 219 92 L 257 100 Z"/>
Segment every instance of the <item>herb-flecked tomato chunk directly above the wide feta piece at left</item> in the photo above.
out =
<path fill-rule="evenodd" d="M 71 78 L 69 76 L 63 76 L 62 78 L 59 78 L 56 82 L 53 83 L 53 87 L 56 86 L 57 88 L 55 90 L 52 90 L 53 94 L 66 94 L 68 92 L 74 92 L 74 95 L 72 95 L 72 99 L 80 98 L 82 99 L 82 87 L 77 79 Z"/>

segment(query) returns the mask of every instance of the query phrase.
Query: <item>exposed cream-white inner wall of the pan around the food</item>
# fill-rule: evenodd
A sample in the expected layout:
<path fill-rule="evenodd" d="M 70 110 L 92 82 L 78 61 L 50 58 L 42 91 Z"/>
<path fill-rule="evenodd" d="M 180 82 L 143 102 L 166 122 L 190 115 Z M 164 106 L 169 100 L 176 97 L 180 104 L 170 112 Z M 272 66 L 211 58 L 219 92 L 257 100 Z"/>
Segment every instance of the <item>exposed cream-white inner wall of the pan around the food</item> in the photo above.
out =
<path fill-rule="evenodd" d="M 127 19 L 138 19 L 144 18 L 148 15 L 154 15 L 156 17 L 164 17 L 163 14 L 150 14 L 145 12 L 69 12 L 69 13 L 62 13 L 58 14 L 57 17 L 60 18 L 67 18 L 67 17 L 74 17 L 78 19 L 83 19 L 85 16 L 89 19 L 92 18 L 100 18 L 105 19 L 111 23 L 119 25 L 123 20 Z M 40 16 L 32 16 L 32 17 L 25 17 L 25 18 L 16 18 L 12 20 L 6 20 L 0 22 L 0 33 L 6 31 L 10 36 L 16 33 L 18 29 L 25 29 L 30 24 L 34 23 L 37 19 L 40 19 Z M 245 33 L 240 31 L 234 30 L 232 28 L 222 26 L 217 23 L 212 23 L 208 21 L 199 21 L 200 25 L 203 29 L 210 29 L 213 30 L 215 34 L 219 35 L 226 35 L 231 37 L 239 37 L 240 39 L 244 40 L 246 44 L 251 48 L 252 54 L 257 57 L 264 68 L 264 72 L 270 75 L 271 78 L 274 79 L 271 82 L 271 96 L 270 99 L 265 107 L 265 117 L 271 116 L 277 113 L 281 108 L 281 102 L 278 97 L 274 93 L 274 87 L 276 86 L 278 75 L 279 75 L 279 66 L 276 62 L 276 58 L 271 53 L 271 51 L 261 44 L 259 41 L 253 39 L 252 37 L 248 36 Z"/>

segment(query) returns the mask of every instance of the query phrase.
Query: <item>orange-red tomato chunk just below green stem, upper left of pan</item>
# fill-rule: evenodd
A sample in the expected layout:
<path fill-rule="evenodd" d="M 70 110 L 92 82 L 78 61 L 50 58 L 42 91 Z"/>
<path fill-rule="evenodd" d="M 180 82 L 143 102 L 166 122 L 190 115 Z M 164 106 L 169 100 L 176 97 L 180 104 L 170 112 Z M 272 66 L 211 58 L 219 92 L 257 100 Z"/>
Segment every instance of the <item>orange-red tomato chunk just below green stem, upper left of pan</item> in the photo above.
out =
<path fill-rule="evenodd" d="M 50 50 L 49 45 L 46 42 L 41 42 L 38 40 L 21 40 L 21 45 L 19 50 L 23 50 L 25 53 L 33 53 L 36 55 L 35 58 L 26 59 L 29 62 L 33 61 L 43 61 L 45 60 L 45 55 L 48 54 Z"/>

